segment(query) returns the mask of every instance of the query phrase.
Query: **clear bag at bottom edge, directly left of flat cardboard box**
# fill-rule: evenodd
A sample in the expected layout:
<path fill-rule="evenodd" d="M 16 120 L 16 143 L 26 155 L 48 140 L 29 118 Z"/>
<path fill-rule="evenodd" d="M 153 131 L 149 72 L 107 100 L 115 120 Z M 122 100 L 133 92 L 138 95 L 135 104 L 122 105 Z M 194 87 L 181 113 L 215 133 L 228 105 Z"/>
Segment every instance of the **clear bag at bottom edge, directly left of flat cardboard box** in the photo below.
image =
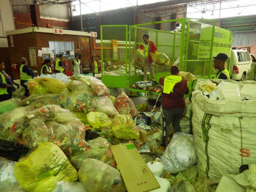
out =
<path fill-rule="evenodd" d="M 115 168 L 97 159 L 85 159 L 78 171 L 79 182 L 90 192 L 123 192 L 124 181 Z"/>

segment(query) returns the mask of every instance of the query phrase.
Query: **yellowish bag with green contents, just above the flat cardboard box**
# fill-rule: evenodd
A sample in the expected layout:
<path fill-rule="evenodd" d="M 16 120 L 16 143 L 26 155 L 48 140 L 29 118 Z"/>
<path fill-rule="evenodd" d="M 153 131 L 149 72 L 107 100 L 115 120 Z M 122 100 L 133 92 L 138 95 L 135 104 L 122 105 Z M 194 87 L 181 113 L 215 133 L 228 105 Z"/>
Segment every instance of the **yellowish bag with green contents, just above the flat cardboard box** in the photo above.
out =
<path fill-rule="evenodd" d="M 118 139 L 138 140 L 140 137 L 131 115 L 116 115 L 110 128 L 113 135 Z"/>

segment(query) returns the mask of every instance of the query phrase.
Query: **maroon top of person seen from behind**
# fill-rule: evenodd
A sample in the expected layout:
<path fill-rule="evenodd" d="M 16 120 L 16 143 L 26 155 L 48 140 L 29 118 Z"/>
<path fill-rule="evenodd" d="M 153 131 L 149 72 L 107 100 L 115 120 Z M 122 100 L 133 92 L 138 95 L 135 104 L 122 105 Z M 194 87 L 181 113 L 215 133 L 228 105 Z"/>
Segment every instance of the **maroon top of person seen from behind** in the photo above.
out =
<path fill-rule="evenodd" d="M 159 83 L 164 86 L 164 77 L 159 79 Z M 173 87 L 173 92 L 170 94 L 163 93 L 162 89 L 162 107 L 163 109 L 177 109 L 185 107 L 184 94 L 189 93 L 188 83 L 182 79 L 179 83 L 176 83 Z"/>

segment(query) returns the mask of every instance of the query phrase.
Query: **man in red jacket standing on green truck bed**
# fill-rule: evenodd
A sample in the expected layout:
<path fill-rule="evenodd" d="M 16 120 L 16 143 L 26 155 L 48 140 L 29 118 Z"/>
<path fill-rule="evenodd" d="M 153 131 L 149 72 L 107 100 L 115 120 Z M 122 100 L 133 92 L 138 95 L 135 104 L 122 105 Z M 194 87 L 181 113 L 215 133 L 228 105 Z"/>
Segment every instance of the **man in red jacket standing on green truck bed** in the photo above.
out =
<path fill-rule="evenodd" d="M 147 74 L 147 68 L 148 68 L 151 76 L 151 81 L 154 84 L 157 84 L 154 76 L 155 66 L 150 55 L 150 53 L 156 52 L 157 48 L 153 41 L 148 40 L 149 36 L 147 34 L 144 34 L 142 38 L 143 38 L 143 42 L 139 45 L 139 49 L 144 50 L 144 55 L 145 55 L 143 81 L 147 81 L 148 79 L 148 74 Z"/>

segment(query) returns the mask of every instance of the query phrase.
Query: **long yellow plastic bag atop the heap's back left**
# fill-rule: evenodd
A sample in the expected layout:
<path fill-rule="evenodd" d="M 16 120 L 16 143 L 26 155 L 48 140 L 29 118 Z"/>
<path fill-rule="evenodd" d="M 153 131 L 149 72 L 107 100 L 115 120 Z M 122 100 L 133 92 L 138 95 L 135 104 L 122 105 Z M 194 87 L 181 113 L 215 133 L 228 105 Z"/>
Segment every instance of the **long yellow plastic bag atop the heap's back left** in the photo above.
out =
<path fill-rule="evenodd" d="M 66 87 L 67 83 L 50 77 L 35 77 L 37 82 L 47 87 L 51 93 L 60 94 Z"/>

